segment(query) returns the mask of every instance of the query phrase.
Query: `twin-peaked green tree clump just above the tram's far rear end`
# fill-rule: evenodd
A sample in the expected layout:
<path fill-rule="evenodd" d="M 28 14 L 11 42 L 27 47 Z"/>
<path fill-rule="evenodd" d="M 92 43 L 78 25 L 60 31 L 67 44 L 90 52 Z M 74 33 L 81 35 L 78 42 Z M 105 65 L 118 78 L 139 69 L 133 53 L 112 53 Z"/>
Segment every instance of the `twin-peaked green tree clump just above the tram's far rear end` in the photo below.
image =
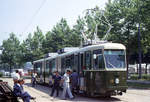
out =
<path fill-rule="evenodd" d="M 22 52 L 21 60 L 23 63 L 32 62 L 44 57 L 43 50 L 44 35 L 42 31 L 37 27 L 34 35 L 32 37 L 31 33 L 28 35 L 27 39 L 23 41 L 20 45 Z"/>

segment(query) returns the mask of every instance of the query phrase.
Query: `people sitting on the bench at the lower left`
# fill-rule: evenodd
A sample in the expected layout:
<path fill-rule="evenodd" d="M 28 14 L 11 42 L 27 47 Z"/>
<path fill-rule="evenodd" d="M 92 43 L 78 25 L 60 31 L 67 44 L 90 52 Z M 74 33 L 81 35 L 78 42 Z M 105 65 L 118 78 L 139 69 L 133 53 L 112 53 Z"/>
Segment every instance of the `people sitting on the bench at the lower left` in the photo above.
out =
<path fill-rule="evenodd" d="M 30 102 L 30 99 L 35 99 L 35 97 L 32 97 L 28 92 L 24 91 L 23 84 L 25 82 L 22 78 L 20 78 L 18 70 L 16 70 L 16 74 L 13 77 L 13 81 L 13 93 L 16 97 L 22 98 L 23 102 Z"/>

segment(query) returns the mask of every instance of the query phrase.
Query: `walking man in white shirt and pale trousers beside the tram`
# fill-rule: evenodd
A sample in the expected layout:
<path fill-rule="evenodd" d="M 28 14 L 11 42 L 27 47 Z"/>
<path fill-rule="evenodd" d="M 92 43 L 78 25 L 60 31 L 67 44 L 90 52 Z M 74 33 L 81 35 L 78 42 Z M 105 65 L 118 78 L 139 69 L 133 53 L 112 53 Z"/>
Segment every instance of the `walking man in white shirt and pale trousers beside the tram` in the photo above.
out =
<path fill-rule="evenodd" d="M 71 90 L 70 90 L 70 78 L 69 78 L 69 75 L 71 74 L 70 70 L 67 70 L 66 73 L 64 74 L 63 76 L 63 93 L 62 93 L 62 99 L 66 99 L 66 92 L 68 93 L 69 95 L 69 98 L 70 99 L 73 99 L 73 95 L 71 93 Z"/>

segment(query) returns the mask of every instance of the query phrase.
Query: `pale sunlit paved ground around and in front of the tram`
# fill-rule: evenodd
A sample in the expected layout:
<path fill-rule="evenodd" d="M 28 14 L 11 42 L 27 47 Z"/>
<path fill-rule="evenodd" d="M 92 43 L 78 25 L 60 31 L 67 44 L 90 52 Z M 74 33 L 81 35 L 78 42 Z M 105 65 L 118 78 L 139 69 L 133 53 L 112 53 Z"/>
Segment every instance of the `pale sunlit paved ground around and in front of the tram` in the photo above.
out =
<path fill-rule="evenodd" d="M 2 80 L 7 81 L 11 87 L 13 86 L 11 78 L 3 78 Z M 107 99 L 76 96 L 74 100 L 61 100 L 60 97 L 52 98 L 49 96 L 51 92 L 50 88 L 41 85 L 33 88 L 31 87 L 30 80 L 26 80 L 24 89 L 36 97 L 36 100 L 31 102 L 150 102 L 149 89 L 128 89 L 127 93 L 124 93 L 122 96 L 113 96 Z"/>

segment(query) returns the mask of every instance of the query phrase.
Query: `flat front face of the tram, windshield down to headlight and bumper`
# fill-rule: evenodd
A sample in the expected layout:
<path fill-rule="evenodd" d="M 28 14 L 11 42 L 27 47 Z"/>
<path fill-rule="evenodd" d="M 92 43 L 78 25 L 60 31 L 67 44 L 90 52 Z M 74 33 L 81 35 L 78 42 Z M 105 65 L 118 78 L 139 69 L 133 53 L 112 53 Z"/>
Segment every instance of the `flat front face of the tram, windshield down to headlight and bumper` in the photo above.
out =
<path fill-rule="evenodd" d="M 126 57 L 124 49 L 104 50 L 106 92 L 108 95 L 122 95 L 127 89 Z"/>

